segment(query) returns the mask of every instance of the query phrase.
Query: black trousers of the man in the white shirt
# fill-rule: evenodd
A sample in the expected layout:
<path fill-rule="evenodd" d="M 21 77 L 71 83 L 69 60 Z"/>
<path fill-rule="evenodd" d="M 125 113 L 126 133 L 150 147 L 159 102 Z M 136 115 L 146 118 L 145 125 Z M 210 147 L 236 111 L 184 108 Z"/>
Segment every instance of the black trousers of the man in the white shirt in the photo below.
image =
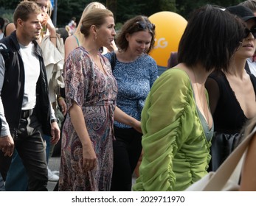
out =
<path fill-rule="evenodd" d="M 17 135 L 12 134 L 15 149 L 21 157 L 29 178 L 29 191 L 47 191 L 46 144 L 41 136 L 41 124 L 35 113 L 22 113 Z M 0 152 L 0 172 L 6 180 L 12 157 Z"/>

